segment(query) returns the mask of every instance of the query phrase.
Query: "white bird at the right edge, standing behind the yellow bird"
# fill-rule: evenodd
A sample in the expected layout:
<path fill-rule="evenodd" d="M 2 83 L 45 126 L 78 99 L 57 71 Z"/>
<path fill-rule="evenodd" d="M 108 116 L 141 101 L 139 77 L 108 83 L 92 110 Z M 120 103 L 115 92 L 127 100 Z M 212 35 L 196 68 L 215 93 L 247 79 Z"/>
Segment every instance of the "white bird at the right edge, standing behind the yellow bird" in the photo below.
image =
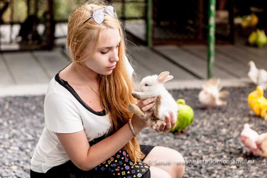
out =
<path fill-rule="evenodd" d="M 267 71 L 264 69 L 257 69 L 253 61 L 249 61 L 249 72 L 247 73 L 250 80 L 255 85 L 262 86 L 263 90 L 267 89 Z"/>

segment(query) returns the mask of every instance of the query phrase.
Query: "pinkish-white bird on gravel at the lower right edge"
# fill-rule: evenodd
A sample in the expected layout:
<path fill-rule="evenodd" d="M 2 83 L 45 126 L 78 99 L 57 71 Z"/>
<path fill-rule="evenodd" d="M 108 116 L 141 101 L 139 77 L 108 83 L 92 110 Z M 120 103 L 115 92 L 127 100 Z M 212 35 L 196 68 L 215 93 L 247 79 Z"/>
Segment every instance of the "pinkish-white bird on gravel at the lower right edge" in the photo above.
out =
<path fill-rule="evenodd" d="M 250 150 L 248 155 L 260 155 L 267 157 L 267 133 L 258 134 L 249 127 L 249 124 L 244 125 L 244 129 L 240 134 L 242 143 Z"/>

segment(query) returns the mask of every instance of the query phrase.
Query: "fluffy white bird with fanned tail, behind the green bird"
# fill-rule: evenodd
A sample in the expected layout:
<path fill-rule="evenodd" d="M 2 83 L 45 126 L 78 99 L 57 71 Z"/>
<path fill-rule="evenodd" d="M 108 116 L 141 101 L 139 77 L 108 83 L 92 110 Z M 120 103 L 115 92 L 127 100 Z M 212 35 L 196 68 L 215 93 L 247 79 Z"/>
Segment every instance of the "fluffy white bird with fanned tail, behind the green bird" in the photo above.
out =
<path fill-rule="evenodd" d="M 220 91 L 222 86 L 220 85 L 220 79 L 209 79 L 205 85 L 202 86 L 202 90 L 198 94 L 198 100 L 203 107 L 226 105 L 226 101 L 222 101 L 220 98 L 224 98 L 228 95 L 228 91 Z"/>

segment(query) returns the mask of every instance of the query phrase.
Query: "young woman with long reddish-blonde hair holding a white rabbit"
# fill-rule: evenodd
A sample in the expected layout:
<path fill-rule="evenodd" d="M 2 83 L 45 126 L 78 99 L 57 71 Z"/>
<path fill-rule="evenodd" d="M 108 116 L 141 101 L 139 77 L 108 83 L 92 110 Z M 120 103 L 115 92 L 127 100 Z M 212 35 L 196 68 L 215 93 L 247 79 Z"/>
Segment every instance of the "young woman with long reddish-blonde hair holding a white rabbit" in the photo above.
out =
<path fill-rule="evenodd" d="M 72 63 L 50 81 L 32 178 L 182 177 L 179 152 L 137 142 L 136 134 L 149 125 L 127 109 L 136 100 L 124 40 L 112 6 L 88 2 L 71 14 L 67 47 Z M 136 105 L 148 111 L 155 99 Z M 171 115 L 158 132 L 174 126 Z"/>

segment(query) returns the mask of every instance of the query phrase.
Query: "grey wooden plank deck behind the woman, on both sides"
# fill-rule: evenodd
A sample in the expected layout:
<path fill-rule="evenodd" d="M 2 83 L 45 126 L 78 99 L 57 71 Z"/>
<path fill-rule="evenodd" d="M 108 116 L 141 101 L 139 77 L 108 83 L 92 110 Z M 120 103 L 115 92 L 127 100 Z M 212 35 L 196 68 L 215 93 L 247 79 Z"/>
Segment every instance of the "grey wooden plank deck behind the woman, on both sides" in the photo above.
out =
<path fill-rule="evenodd" d="M 131 38 L 128 40 L 132 41 Z M 128 42 L 128 50 L 139 79 L 150 74 L 170 71 L 177 81 L 206 79 L 207 47 L 205 45 L 156 46 L 149 49 Z M 216 45 L 214 77 L 221 79 L 247 78 L 248 61 L 267 69 L 267 47 Z M 61 47 L 52 51 L 0 53 L 0 87 L 48 84 L 51 78 L 69 63 Z"/>

